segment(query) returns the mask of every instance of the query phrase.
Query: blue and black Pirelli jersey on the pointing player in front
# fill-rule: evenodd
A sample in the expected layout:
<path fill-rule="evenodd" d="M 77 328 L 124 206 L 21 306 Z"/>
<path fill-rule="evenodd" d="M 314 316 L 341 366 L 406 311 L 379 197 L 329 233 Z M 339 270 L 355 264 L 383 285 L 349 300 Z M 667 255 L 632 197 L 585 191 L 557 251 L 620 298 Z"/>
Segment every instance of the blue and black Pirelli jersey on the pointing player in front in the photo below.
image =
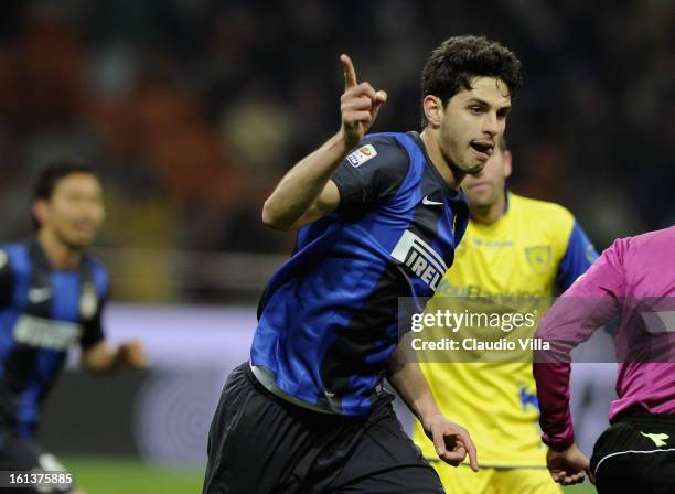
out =
<path fill-rule="evenodd" d="M 303 402 L 364 415 L 398 343 L 398 298 L 433 293 L 469 205 L 415 132 L 367 136 L 332 180 L 340 206 L 299 230 L 265 289 L 251 364 Z"/>

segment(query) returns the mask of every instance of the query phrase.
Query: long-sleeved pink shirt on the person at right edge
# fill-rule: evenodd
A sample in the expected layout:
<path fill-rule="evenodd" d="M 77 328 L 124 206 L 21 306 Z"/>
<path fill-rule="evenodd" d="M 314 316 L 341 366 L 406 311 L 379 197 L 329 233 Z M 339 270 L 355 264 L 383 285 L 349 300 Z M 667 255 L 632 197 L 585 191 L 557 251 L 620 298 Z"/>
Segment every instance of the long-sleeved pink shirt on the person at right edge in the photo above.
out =
<path fill-rule="evenodd" d="M 551 344 L 534 364 L 545 443 L 574 442 L 569 351 L 617 316 L 610 420 L 632 406 L 675 414 L 675 226 L 615 240 L 539 324 L 536 336 Z"/>

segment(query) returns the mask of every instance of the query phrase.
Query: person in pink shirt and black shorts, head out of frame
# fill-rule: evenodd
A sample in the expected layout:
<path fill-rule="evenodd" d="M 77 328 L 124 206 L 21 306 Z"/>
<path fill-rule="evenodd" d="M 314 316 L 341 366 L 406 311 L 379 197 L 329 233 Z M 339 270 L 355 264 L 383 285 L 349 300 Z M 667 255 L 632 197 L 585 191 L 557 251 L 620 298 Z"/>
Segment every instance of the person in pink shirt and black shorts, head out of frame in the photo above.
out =
<path fill-rule="evenodd" d="M 675 485 L 675 226 L 615 240 L 543 319 L 534 377 L 548 469 L 561 484 L 596 480 L 600 494 L 669 493 Z M 569 352 L 615 321 L 618 399 L 590 464 L 575 444 Z"/>

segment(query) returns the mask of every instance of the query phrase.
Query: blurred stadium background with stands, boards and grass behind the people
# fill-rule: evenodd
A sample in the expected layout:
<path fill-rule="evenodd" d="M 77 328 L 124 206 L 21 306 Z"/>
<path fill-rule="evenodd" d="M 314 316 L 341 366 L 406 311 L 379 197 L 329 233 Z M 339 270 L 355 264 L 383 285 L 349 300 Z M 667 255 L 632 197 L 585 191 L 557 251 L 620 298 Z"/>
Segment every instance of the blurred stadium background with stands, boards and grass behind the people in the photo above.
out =
<path fill-rule="evenodd" d="M 30 235 L 41 165 L 99 167 L 108 334 L 137 335 L 153 363 L 106 379 L 72 365 L 54 391 L 42 442 L 87 492 L 199 492 L 219 388 L 292 246 L 261 225 L 260 205 L 336 129 L 338 56 L 389 95 L 373 130 L 418 129 L 427 52 L 465 33 L 524 63 L 507 131 L 514 191 L 568 206 L 599 249 L 675 223 L 673 2 L 2 2 L 0 240 Z M 599 391 L 578 380 L 592 427 L 611 393 L 604 370 L 589 373 Z"/>

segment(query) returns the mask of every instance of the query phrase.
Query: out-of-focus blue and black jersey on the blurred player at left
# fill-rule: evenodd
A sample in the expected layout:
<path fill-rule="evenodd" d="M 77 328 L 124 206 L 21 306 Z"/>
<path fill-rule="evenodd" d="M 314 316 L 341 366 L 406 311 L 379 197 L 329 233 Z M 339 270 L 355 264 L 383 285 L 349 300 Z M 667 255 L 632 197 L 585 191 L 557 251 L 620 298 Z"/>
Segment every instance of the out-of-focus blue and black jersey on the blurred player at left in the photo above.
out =
<path fill-rule="evenodd" d="M 32 438 L 72 344 L 104 339 L 106 269 L 54 269 L 38 241 L 0 246 L 0 425 Z"/>

